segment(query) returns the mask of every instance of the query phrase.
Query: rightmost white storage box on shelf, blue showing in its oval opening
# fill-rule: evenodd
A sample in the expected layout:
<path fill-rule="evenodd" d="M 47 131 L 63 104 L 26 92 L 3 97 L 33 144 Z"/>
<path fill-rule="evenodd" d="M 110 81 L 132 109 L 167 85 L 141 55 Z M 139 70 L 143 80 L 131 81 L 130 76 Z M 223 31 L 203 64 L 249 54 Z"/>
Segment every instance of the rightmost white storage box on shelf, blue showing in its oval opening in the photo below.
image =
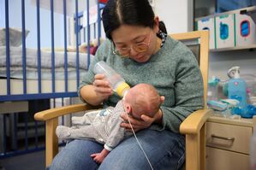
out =
<path fill-rule="evenodd" d="M 255 22 L 250 15 L 235 14 L 236 45 L 256 44 Z"/>

